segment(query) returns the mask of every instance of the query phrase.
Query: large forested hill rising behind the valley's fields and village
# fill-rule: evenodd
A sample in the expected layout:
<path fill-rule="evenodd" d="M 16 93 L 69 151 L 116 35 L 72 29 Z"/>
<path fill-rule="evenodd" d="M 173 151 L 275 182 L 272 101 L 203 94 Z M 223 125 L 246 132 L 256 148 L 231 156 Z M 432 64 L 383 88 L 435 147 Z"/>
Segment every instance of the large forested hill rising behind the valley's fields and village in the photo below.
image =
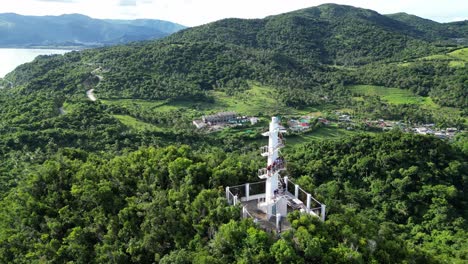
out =
<path fill-rule="evenodd" d="M 457 49 L 453 44 L 440 47 L 436 42 L 413 26 L 374 11 L 327 4 L 265 19 L 221 20 L 182 30 L 161 41 L 67 54 L 62 59 L 50 58 L 49 66 L 62 60 L 62 65 L 83 69 L 83 74 L 98 66 L 106 69 L 99 92 L 108 98 L 206 101 L 210 100 L 207 91 L 233 94 L 245 90 L 247 81 L 257 81 L 276 87 L 285 104 L 302 107 L 331 98 L 343 85 L 385 82 L 431 95 L 441 105 L 464 107 L 465 63 L 451 67 L 449 61 L 421 59 Z M 52 69 L 48 63 L 44 57 L 6 78 L 16 84 L 31 80 L 25 90 L 61 90 L 60 81 L 45 84 L 70 72 L 54 66 L 46 73 Z M 34 69 L 36 64 L 44 67 Z M 410 72 L 413 81 L 408 83 L 408 78 L 402 80 L 395 72 Z M 58 76 L 54 77 L 55 73 Z M 34 81 L 34 76 L 44 74 L 45 80 Z M 88 77 L 92 76 L 88 73 Z"/>

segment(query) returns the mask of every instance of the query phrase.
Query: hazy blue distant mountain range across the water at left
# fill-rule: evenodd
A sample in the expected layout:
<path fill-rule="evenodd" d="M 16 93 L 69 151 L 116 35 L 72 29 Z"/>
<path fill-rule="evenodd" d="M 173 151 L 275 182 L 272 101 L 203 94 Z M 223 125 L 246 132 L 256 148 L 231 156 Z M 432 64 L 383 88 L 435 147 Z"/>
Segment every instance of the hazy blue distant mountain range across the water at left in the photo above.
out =
<path fill-rule="evenodd" d="M 162 38 L 185 26 L 153 19 L 102 20 L 80 14 L 0 14 L 0 46 L 103 46 Z"/>

